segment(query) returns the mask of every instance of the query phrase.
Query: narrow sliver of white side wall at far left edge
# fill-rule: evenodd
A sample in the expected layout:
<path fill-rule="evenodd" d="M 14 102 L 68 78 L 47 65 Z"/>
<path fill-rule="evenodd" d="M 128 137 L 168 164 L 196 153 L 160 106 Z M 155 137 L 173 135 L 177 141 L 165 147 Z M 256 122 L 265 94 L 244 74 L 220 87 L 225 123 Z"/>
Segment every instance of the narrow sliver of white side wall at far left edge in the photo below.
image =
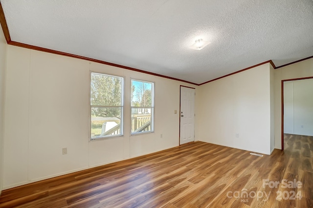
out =
<path fill-rule="evenodd" d="M 6 66 L 6 41 L 0 29 L 0 193 L 3 178 L 3 138 L 4 138 L 4 99 L 5 99 L 5 66 Z"/>

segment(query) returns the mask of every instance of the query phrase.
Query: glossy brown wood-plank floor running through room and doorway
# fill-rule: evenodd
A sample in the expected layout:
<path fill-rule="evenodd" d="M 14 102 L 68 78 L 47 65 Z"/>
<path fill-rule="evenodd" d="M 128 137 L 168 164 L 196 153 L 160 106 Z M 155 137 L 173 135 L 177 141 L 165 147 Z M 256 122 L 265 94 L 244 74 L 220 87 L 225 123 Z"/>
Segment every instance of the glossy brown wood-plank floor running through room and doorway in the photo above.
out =
<path fill-rule="evenodd" d="M 0 207 L 313 207 L 313 137 L 285 135 L 284 151 L 249 153 L 198 141 L 4 190 Z M 284 187 L 283 179 L 302 187 Z M 293 191 L 295 200 L 289 199 Z M 276 199 L 279 193 L 282 199 Z"/>

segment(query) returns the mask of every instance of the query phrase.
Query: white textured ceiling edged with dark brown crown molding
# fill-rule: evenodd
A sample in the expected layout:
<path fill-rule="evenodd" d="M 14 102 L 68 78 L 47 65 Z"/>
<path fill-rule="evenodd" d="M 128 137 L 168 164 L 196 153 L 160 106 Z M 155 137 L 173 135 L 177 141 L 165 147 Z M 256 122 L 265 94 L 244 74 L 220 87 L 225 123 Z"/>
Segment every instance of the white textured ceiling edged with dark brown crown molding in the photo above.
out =
<path fill-rule="evenodd" d="M 313 55 L 313 0 L 0 2 L 12 41 L 198 84 Z"/>

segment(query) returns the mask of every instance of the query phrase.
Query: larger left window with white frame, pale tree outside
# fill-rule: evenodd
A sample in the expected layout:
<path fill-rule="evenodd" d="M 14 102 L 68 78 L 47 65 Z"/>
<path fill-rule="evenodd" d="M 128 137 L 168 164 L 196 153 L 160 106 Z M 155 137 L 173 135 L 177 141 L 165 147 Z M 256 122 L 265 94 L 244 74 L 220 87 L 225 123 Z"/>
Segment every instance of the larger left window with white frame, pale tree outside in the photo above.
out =
<path fill-rule="evenodd" d="M 91 140 L 123 135 L 124 78 L 91 73 Z"/>

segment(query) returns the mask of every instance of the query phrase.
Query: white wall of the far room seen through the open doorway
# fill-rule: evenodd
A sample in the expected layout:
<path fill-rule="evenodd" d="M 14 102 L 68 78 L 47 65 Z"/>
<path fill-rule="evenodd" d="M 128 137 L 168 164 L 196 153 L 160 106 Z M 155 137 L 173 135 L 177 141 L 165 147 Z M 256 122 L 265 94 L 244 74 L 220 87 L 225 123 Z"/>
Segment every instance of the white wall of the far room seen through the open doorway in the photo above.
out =
<path fill-rule="evenodd" d="M 313 136 L 313 79 L 284 82 L 284 133 Z"/>

